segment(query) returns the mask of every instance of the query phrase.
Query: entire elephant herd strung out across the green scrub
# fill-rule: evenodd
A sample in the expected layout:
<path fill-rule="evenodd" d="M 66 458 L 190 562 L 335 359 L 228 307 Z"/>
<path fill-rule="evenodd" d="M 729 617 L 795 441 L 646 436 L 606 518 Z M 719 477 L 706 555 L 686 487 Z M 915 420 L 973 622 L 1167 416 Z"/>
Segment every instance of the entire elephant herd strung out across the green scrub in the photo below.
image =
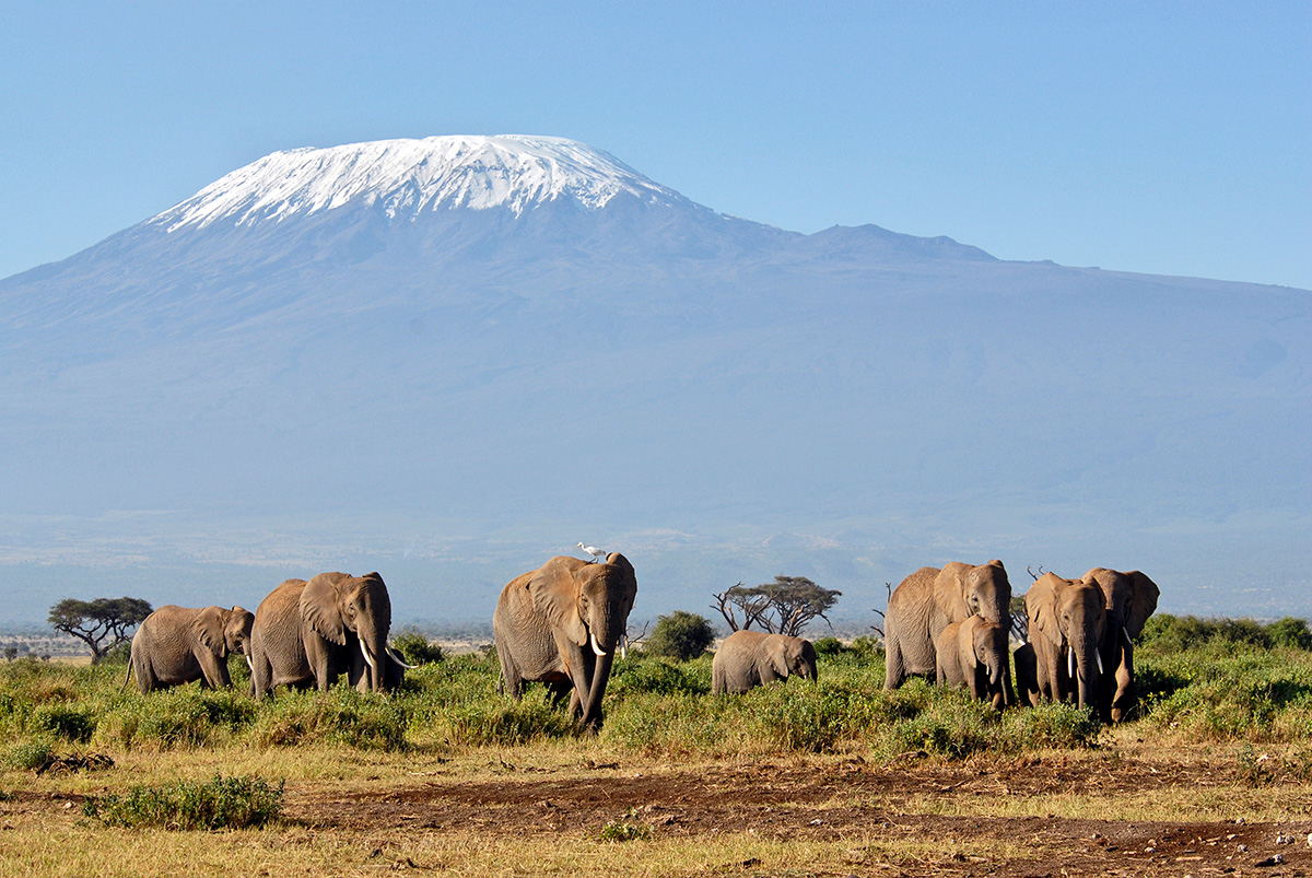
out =
<path fill-rule="evenodd" d="M 934 675 L 997 707 L 1039 701 L 1097 706 L 1118 722 L 1134 706 L 1134 644 L 1157 608 L 1157 585 L 1139 571 L 1102 567 L 1082 579 L 1046 574 L 1025 596 L 1029 640 L 1015 651 L 1013 688 L 1008 631 L 1012 585 L 1002 562 L 922 567 L 893 589 L 884 626 L 884 684 Z M 492 616 L 499 690 L 514 700 L 542 682 L 585 728 L 602 723 L 601 702 L 638 596 L 632 564 L 556 556 L 510 580 Z M 133 638 L 129 677 L 138 688 L 199 680 L 230 686 L 227 659 L 241 654 L 256 697 L 274 686 L 327 690 L 346 675 L 362 692 L 391 692 L 411 665 L 388 644 L 392 608 L 378 574 L 289 579 L 255 613 L 240 606 L 161 606 Z M 1110 671 L 1109 671 L 1110 669 Z M 711 664 L 714 693 L 800 676 L 815 680 L 808 640 L 736 631 Z"/>

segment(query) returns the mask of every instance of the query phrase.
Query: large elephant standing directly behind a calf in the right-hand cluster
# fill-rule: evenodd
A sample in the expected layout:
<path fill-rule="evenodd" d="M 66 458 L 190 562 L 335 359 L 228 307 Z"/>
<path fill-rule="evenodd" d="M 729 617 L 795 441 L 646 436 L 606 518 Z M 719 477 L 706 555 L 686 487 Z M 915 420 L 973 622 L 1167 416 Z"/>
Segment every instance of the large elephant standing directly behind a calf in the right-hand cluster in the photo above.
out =
<path fill-rule="evenodd" d="M 896 689 L 911 675 L 935 673 L 934 640 L 953 622 L 983 616 L 1004 631 L 1010 630 L 1010 601 L 1012 583 L 997 559 L 917 570 L 888 597 L 884 688 Z"/>

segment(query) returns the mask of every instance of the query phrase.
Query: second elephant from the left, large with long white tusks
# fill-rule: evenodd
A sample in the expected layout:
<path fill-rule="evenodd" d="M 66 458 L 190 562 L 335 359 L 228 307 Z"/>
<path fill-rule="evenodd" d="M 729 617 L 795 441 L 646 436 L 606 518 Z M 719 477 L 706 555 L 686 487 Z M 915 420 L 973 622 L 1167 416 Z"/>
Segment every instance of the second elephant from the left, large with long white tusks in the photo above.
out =
<path fill-rule="evenodd" d="M 392 604 L 378 574 L 289 579 L 255 612 L 256 697 L 274 686 L 325 692 L 342 673 L 362 692 L 388 692 L 409 667 L 387 646 Z"/>

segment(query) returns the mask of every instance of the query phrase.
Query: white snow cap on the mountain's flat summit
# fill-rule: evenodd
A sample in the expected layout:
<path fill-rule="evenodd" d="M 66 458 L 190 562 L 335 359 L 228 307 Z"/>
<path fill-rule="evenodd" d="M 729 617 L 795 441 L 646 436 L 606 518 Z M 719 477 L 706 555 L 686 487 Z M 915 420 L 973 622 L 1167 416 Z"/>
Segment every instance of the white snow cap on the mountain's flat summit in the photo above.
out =
<path fill-rule="evenodd" d="M 621 193 L 649 203 L 687 203 L 614 156 L 575 140 L 434 136 L 274 152 L 151 222 L 172 232 L 215 222 L 256 224 L 348 205 L 382 205 L 391 219 L 451 207 L 508 207 L 518 215 L 559 198 L 596 210 Z"/>

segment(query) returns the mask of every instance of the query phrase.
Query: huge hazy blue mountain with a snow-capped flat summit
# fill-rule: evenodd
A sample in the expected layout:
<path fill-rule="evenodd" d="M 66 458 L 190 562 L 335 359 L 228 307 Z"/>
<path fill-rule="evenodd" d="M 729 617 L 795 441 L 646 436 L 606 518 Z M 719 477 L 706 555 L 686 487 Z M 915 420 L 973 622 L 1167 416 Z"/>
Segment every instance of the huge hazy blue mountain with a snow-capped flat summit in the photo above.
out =
<path fill-rule="evenodd" d="M 993 556 L 1307 613 L 1309 301 L 802 235 L 560 139 L 277 152 L 0 281 L 0 589 L 379 570 L 468 618 L 584 539 L 640 617 Z"/>

